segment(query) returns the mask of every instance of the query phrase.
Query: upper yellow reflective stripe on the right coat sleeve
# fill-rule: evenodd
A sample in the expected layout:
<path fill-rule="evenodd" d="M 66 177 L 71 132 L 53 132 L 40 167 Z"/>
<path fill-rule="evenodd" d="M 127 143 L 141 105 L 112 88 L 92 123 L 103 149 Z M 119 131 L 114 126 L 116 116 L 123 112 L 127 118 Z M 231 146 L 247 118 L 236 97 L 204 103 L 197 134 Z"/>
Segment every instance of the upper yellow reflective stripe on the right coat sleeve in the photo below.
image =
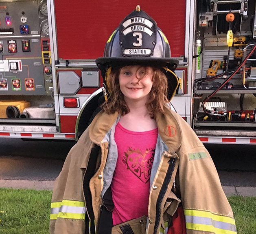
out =
<path fill-rule="evenodd" d="M 190 215 L 190 216 L 199 216 L 199 217 L 205 217 L 205 218 L 211 218 L 216 221 L 221 221 L 225 223 L 231 223 L 235 225 L 235 221 L 231 217 L 223 216 L 223 215 L 217 215 L 213 214 L 210 211 L 203 211 L 203 210 L 184 210 L 184 215 Z"/>

